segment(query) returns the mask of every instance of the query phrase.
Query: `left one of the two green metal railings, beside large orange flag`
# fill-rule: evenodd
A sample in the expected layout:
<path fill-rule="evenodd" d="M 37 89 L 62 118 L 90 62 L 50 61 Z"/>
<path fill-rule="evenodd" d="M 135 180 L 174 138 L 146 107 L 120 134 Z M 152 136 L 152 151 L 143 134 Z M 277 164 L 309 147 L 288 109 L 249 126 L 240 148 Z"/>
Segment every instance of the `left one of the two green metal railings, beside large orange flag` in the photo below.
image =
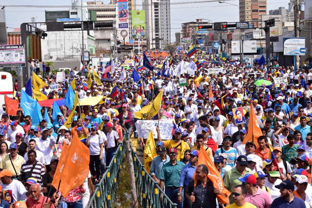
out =
<path fill-rule="evenodd" d="M 125 140 L 128 139 L 128 132 L 123 132 L 122 144 L 119 144 L 113 159 L 102 179 L 96 185 L 96 189 L 87 208 L 111 208 L 116 197 L 119 184 L 119 173 L 122 168 L 122 161 L 125 157 Z"/>

